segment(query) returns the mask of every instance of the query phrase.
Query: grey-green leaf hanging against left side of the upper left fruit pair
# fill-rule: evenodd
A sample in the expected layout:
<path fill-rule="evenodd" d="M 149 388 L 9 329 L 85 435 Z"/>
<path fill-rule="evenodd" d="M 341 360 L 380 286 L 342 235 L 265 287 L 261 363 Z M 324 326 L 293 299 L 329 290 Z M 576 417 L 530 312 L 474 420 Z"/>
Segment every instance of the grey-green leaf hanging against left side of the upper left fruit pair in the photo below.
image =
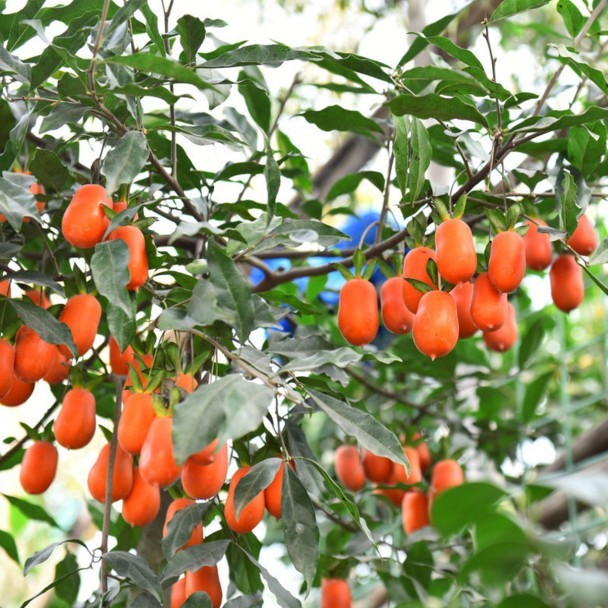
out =
<path fill-rule="evenodd" d="M 104 241 L 95 246 L 91 271 L 97 291 L 131 318 L 133 307 L 126 287 L 131 280 L 129 259 L 129 248 L 122 239 Z"/>

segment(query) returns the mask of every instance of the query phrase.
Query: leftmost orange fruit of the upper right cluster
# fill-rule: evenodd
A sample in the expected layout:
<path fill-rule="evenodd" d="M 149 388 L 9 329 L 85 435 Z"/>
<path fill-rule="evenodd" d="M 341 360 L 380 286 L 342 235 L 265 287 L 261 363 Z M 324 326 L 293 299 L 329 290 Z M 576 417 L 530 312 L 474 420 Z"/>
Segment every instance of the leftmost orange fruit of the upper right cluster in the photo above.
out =
<path fill-rule="evenodd" d="M 347 281 L 340 290 L 338 327 L 344 339 L 354 346 L 369 344 L 378 333 L 378 295 L 365 279 Z"/>

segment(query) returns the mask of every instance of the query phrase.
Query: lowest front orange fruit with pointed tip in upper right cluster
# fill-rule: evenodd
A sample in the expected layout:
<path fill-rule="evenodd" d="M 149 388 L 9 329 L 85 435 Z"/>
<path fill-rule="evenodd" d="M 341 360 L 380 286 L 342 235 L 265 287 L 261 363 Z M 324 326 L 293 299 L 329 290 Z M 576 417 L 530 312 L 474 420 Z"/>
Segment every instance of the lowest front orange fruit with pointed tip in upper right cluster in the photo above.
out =
<path fill-rule="evenodd" d="M 458 342 L 458 312 L 449 293 L 429 291 L 422 296 L 412 335 L 418 350 L 431 360 L 444 357 Z"/>

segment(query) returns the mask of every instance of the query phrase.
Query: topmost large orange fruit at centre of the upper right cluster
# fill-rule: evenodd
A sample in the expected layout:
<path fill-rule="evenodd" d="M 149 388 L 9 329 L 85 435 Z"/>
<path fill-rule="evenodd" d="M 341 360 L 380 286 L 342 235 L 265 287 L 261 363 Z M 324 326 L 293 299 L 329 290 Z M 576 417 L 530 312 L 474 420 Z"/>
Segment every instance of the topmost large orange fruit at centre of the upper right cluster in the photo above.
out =
<path fill-rule="evenodd" d="M 473 233 L 460 219 L 445 220 L 435 233 L 437 270 L 448 283 L 458 285 L 468 281 L 477 268 Z"/>

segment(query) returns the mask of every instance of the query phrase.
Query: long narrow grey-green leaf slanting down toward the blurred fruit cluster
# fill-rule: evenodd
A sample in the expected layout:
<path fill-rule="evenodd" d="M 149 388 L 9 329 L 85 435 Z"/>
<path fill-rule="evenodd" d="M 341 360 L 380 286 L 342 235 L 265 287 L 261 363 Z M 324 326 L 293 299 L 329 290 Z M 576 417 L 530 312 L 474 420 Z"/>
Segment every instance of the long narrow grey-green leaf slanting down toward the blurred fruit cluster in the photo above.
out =
<path fill-rule="evenodd" d="M 392 431 L 373 416 L 317 391 L 311 390 L 309 395 L 321 410 L 347 435 L 355 437 L 365 449 L 405 465 L 409 472 L 409 462 L 403 453 L 401 443 Z"/>

